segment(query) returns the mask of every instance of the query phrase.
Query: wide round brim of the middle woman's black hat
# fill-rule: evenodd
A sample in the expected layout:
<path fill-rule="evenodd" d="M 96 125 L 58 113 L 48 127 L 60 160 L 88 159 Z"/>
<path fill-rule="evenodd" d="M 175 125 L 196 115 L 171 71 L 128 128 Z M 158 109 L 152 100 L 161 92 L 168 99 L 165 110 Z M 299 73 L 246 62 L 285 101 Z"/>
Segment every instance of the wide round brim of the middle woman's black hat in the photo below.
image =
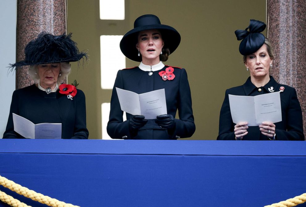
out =
<path fill-rule="evenodd" d="M 180 44 L 181 36 L 174 29 L 168 25 L 163 24 L 150 24 L 141 27 L 136 27 L 128 31 L 120 41 L 121 52 L 130 60 L 141 62 L 141 56 L 138 56 L 138 50 L 136 49 L 136 43 L 138 38 L 138 33 L 144 30 L 157 29 L 162 34 L 162 39 L 164 40 L 164 47 L 169 48 L 170 54 L 176 50 Z"/>

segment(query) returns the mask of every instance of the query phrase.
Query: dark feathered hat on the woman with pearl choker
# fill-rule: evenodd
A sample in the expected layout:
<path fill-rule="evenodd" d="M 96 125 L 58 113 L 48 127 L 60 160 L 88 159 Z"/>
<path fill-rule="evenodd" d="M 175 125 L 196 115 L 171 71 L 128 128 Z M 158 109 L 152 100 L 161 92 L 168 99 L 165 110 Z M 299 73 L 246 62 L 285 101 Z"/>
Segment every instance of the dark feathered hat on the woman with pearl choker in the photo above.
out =
<path fill-rule="evenodd" d="M 31 40 L 24 48 L 25 59 L 14 64 L 10 68 L 23 65 L 38 65 L 58 62 L 75 62 L 85 57 L 86 52 L 79 52 L 77 43 L 71 39 L 72 33 L 66 35 L 52 35 L 41 32 L 36 39 Z"/>

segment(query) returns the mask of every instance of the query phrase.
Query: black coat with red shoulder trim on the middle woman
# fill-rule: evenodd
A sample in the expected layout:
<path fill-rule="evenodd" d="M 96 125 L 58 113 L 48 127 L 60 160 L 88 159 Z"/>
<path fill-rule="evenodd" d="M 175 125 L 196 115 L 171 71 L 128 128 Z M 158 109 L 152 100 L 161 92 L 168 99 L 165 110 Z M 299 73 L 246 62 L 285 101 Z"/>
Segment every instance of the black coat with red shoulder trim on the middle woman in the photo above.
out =
<path fill-rule="evenodd" d="M 186 70 L 184 68 L 173 67 L 175 78 L 171 81 L 163 81 L 158 73 L 162 70 L 164 71 L 165 68 L 167 66 L 153 72 L 152 76 L 149 76 L 148 72 L 141 70 L 139 67 L 118 71 L 110 101 L 110 119 L 107 124 L 107 132 L 111 138 L 177 139 L 192 136 L 195 131 L 195 124 Z M 115 87 L 138 94 L 165 89 L 167 114 L 175 117 L 176 110 L 179 112 L 180 119 L 175 119 L 176 130 L 174 134 L 169 135 L 167 129 L 159 127 L 154 119 L 149 119 L 147 124 L 138 130 L 137 136 L 132 137 L 129 132 L 129 119 L 131 114 L 126 113 L 127 121 L 123 121 L 123 111 L 120 108 Z"/>

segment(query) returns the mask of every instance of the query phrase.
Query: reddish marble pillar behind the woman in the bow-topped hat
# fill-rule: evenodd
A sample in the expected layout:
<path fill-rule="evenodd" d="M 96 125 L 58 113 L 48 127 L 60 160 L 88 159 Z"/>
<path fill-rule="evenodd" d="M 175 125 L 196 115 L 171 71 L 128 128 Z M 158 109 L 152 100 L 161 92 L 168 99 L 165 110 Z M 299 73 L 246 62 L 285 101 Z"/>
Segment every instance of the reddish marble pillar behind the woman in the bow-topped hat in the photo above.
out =
<path fill-rule="evenodd" d="M 275 53 L 271 75 L 296 89 L 306 137 L 306 1 L 267 0 L 267 28 Z"/>

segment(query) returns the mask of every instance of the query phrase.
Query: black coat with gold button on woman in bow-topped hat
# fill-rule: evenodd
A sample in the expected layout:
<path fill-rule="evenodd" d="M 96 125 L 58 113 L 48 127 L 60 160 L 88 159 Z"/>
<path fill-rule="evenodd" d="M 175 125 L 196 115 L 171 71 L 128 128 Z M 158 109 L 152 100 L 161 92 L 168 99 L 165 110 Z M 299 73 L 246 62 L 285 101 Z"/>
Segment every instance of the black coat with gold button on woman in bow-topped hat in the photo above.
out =
<path fill-rule="evenodd" d="M 225 91 L 225 98 L 220 111 L 219 135 L 217 139 L 235 139 L 235 124 L 233 123 L 229 108 L 229 94 L 257 96 L 260 94 L 277 92 L 281 86 L 285 88 L 284 91 L 280 93 L 282 121 L 274 123 L 275 138 L 277 140 L 304 140 L 302 110 L 296 95 L 296 90 L 290 86 L 278 84 L 272 76 L 270 76 L 270 81 L 265 86 L 260 87 L 261 92 L 259 92 L 259 88 L 251 82 L 250 77 L 245 84 Z M 249 126 L 248 134 L 243 137 L 243 140 L 269 140 L 269 138 L 261 134 L 258 126 Z"/>

